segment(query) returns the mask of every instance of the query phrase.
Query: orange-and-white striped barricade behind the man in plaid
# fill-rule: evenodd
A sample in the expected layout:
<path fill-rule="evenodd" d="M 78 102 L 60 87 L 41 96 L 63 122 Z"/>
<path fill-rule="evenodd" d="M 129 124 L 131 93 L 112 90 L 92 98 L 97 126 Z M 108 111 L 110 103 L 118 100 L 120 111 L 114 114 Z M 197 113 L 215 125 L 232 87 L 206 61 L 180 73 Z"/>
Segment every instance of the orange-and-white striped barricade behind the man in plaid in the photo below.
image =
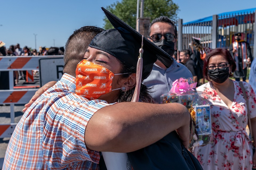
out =
<path fill-rule="evenodd" d="M 32 70 L 38 70 L 39 59 L 63 56 L 6 56 L 0 57 L 0 71 L 9 71 L 9 89 L 0 90 L 0 105 L 10 105 L 10 124 L 0 124 L 0 138 L 11 137 L 17 123 L 14 122 L 15 104 L 26 104 L 37 88 L 14 89 L 14 71 L 27 70 L 27 82 L 34 81 Z M 5 82 L 0 82 L 5 83 Z M 0 106 L 1 107 L 1 106 Z"/>

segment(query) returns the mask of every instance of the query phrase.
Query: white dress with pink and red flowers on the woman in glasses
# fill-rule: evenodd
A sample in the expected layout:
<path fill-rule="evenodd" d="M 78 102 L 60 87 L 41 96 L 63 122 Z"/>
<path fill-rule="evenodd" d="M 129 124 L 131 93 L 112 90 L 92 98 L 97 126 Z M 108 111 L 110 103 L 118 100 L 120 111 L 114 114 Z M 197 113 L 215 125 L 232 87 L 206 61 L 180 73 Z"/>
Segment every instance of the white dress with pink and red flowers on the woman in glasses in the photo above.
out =
<path fill-rule="evenodd" d="M 256 117 L 256 99 L 251 86 L 243 82 L 250 107 L 250 118 Z M 208 82 L 197 88 L 211 105 L 211 143 L 193 149 L 203 169 L 252 169 L 252 143 L 245 131 L 246 101 L 239 83 L 234 81 L 234 101 L 229 108 Z"/>

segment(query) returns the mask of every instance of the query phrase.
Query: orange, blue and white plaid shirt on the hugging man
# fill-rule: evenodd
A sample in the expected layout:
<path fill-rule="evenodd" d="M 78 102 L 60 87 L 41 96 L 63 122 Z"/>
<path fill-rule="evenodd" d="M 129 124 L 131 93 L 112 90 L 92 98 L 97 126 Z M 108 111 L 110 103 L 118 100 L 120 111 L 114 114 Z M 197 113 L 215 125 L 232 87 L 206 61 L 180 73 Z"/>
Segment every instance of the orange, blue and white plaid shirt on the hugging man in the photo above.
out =
<path fill-rule="evenodd" d="M 85 146 L 91 116 L 109 105 L 75 94 L 75 78 L 64 74 L 22 116 L 6 150 L 7 169 L 99 169 L 99 152 Z"/>

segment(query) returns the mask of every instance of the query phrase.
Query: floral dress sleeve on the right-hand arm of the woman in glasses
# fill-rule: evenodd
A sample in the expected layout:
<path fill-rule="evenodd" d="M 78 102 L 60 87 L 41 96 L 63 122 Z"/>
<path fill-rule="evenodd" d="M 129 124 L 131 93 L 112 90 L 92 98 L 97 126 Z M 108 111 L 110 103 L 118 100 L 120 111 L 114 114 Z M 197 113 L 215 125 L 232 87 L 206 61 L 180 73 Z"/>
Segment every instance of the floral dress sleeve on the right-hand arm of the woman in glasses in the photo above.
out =
<path fill-rule="evenodd" d="M 245 87 L 245 92 L 246 92 L 247 99 L 248 99 L 250 118 L 254 118 L 254 117 L 256 117 L 255 92 L 253 91 L 253 88 L 251 88 L 251 85 L 249 83 L 243 82 L 243 85 Z M 248 111 L 248 108 L 247 108 L 247 111 Z"/>

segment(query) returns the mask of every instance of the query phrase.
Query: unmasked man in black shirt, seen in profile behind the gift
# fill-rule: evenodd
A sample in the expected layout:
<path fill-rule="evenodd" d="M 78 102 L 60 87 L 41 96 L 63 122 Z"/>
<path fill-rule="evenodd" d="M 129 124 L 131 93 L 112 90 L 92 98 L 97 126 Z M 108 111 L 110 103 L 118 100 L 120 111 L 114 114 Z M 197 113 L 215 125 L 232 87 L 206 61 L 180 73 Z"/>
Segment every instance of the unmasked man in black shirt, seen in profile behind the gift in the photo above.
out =
<path fill-rule="evenodd" d="M 190 51 L 182 50 L 179 53 L 179 59 L 181 60 L 181 63 L 184 64 L 192 73 L 194 82 L 197 82 L 196 66 L 195 62 L 190 58 Z"/>

